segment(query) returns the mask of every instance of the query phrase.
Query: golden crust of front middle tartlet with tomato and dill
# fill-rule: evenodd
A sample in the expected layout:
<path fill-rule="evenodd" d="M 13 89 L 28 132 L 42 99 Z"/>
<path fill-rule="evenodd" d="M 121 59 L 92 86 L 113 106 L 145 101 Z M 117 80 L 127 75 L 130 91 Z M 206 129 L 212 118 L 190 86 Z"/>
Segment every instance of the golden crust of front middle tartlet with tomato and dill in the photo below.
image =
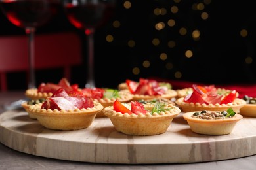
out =
<path fill-rule="evenodd" d="M 145 108 L 152 110 L 153 104 L 147 103 Z M 175 118 L 181 110 L 174 105 L 168 104 L 166 108 L 171 108 L 168 111 L 147 114 L 122 114 L 116 112 L 113 106 L 103 109 L 103 113 L 110 118 L 112 124 L 117 131 L 127 135 L 158 135 L 165 133 L 170 126 L 173 118 Z"/>

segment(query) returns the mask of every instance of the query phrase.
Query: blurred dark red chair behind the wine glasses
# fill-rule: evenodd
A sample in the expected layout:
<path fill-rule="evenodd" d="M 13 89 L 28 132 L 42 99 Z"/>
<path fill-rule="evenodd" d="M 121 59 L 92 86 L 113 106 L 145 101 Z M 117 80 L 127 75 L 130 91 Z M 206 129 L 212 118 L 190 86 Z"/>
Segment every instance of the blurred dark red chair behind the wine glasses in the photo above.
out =
<path fill-rule="evenodd" d="M 81 65 L 81 39 L 72 32 L 35 34 L 35 69 L 63 67 L 64 77 L 70 80 L 71 67 Z M 1 91 L 8 90 L 6 73 L 27 71 L 28 37 L 0 37 Z"/>

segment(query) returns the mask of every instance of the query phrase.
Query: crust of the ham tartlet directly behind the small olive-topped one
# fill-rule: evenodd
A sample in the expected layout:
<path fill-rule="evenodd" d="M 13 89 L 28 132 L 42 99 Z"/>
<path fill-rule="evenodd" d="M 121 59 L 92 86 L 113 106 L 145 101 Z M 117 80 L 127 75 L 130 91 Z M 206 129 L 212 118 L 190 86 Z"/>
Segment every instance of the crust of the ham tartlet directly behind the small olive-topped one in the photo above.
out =
<path fill-rule="evenodd" d="M 240 109 L 246 104 L 243 99 L 236 98 L 232 103 L 228 104 L 202 104 L 200 103 L 186 103 L 184 102 L 184 97 L 181 97 L 175 101 L 175 103 L 181 108 L 182 112 L 193 112 L 198 110 L 209 110 L 209 111 L 225 111 L 232 107 L 234 112 L 239 113 Z"/>

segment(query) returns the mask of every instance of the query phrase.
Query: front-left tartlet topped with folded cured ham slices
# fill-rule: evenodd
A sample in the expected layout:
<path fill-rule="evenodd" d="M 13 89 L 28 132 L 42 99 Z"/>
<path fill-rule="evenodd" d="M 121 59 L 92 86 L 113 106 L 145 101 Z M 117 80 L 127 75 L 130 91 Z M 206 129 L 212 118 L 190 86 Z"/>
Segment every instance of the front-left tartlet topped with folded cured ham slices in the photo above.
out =
<path fill-rule="evenodd" d="M 31 105 L 28 113 L 47 129 L 77 130 L 89 127 L 102 109 L 91 97 L 75 96 L 59 88 L 44 103 Z"/>

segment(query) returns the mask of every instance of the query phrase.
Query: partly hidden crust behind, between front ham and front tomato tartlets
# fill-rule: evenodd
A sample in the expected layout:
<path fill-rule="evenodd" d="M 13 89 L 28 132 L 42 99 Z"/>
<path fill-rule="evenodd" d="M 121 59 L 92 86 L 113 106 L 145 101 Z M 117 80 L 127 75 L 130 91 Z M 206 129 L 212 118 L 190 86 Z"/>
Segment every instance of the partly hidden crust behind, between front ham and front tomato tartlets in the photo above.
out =
<path fill-rule="evenodd" d="M 121 103 L 128 103 L 133 99 L 133 95 L 130 93 L 124 93 L 124 92 L 118 92 L 120 97 L 117 98 L 102 98 L 102 99 L 94 99 L 98 103 L 100 103 L 104 108 L 108 106 L 112 106 L 114 104 L 114 101 L 118 100 Z M 96 115 L 96 118 L 106 117 L 105 114 L 103 114 L 102 111 L 98 112 Z"/>

